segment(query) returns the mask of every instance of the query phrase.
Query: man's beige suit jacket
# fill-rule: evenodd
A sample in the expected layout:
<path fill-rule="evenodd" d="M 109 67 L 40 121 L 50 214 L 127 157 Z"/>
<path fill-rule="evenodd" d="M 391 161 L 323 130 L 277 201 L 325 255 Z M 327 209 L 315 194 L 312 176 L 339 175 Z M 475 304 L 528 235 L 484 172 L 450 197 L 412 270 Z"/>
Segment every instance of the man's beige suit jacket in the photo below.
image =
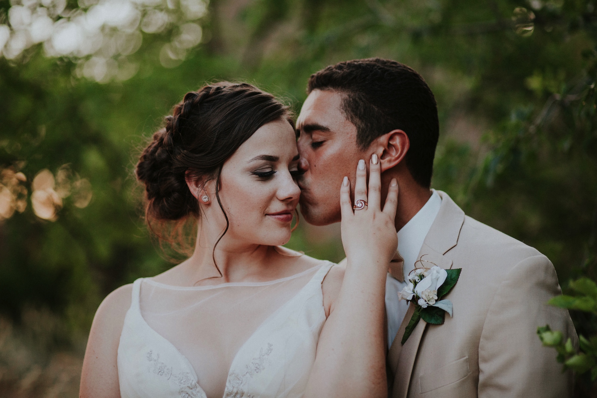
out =
<path fill-rule="evenodd" d="M 537 326 L 549 324 L 577 344 L 567 310 L 546 304 L 561 294 L 553 265 L 533 247 L 465 216 L 442 191 L 439 213 L 420 256 L 441 268 L 462 268 L 444 298 L 445 323 L 420 320 L 401 345 L 408 313 L 387 358 L 392 398 L 567 397 L 571 372 L 543 347 Z M 429 263 L 426 263 L 429 264 Z"/>

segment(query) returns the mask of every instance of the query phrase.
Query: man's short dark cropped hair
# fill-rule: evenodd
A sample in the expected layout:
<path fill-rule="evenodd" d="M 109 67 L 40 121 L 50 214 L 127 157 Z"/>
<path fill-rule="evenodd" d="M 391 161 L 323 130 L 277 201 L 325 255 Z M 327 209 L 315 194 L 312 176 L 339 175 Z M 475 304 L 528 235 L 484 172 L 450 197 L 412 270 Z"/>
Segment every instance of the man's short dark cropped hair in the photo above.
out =
<path fill-rule="evenodd" d="M 403 130 L 410 140 L 408 171 L 419 185 L 429 188 L 439 122 L 435 97 L 421 75 L 396 61 L 359 59 L 311 75 L 307 93 L 313 90 L 346 94 L 342 111 L 356 126 L 361 149 L 383 134 Z"/>

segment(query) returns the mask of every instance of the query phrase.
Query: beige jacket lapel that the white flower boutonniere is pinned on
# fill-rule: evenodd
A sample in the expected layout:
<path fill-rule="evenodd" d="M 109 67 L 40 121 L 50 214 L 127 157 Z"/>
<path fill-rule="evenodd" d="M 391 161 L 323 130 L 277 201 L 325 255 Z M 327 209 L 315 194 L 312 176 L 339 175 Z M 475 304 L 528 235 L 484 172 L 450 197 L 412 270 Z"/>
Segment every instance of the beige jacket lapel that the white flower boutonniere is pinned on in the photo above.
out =
<path fill-rule="evenodd" d="M 424 267 L 430 268 L 437 265 L 440 268 L 448 269 L 452 267 L 453 262 L 446 258 L 444 254 L 456 246 L 458 242 L 458 235 L 464 222 L 464 212 L 448 194 L 442 191 L 438 191 L 438 194 L 442 198 L 442 205 L 425 237 L 423 246 L 418 253 L 418 259 L 423 262 Z M 420 266 L 421 263 L 418 263 L 417 267 Z M 405 398 L 408 394 L 414 361 L 427 326 L 427 323 L 421 319 L 407 341 L 402 345 L 402 336 L 413 312 L 414 305 L 410 304 L 387 356 L 390 372 L 395 375 L 390 386 L 392 398 Z"/>

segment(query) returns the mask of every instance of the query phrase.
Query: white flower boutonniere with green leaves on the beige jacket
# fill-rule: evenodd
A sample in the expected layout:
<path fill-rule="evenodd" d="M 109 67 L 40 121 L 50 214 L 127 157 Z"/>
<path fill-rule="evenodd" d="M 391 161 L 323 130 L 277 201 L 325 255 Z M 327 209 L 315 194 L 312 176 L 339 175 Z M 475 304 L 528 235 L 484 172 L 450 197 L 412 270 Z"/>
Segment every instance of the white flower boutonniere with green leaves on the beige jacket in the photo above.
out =
<path fill-rule="evenodd" d="M 429 262 L 433 267 L 415 268 L 408 274 L 407 286 L 398 292 L 399 299 L 410 301 L 415 306 L 413 317 L 404 330 L 402 344 L 407 341 L 421 318 L 427 323 L 442 324 L 445 313 L 452 316 L 452 302 L 441 298 L 454 287 L 462 270 L 462 268 L 443 270 L 434 263 L 423 260 L 423 256 L 417 262 L 421 265 L 423 262 Z"/>

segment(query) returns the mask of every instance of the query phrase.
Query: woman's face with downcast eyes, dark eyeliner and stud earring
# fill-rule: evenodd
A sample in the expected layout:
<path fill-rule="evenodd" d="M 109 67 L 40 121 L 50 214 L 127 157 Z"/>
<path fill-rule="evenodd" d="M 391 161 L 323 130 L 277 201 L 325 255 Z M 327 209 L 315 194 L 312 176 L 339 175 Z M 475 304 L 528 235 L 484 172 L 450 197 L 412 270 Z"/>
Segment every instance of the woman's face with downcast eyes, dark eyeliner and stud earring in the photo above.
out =
<path fill-rule="evenodd" d="M 287 243 L 300 196 L 294 180 L 297 170 L 296 139 L 288 121 L 267 123 L 245 141 L 220 174 L 220 200 L 230 221 L 225 239 L 248 244 Z M 214 192 L 214 184 L 211 187 Z M 210 197 L 208 213 L 219 212 L 218 224 L 223 221 L 225 228 L 217 199 L 213 194 Z"/>

